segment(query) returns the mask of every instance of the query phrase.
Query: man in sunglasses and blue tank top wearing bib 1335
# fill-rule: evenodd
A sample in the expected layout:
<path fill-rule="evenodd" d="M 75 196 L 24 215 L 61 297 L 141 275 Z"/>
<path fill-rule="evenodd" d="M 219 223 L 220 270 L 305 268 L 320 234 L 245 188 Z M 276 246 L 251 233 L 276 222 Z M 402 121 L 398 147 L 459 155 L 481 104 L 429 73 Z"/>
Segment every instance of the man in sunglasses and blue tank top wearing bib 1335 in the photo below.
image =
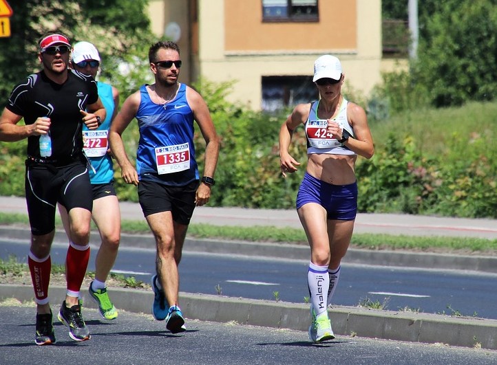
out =
<path fill-rule="evenodd" d="M 202 96 L 178 82 L 178 45 L 152 45 L 149 63 L 156 82 L 143 85 L 125 100 L 112 123 L 109 142 L 124 181 L 138 186 L 140 206 L 156 239 L 152 314 L 156 320 L 166 320 L 169 331 L 178 333 L 186 329 L 178 305 L 178 264 L 193 210 L 209 202 L 211 196 L 219 140 Z M 140 131 L 136 170 L 121 138 L 134 118 Z M 195 160 L 193 121 L 206 142 L 202 178 Z"/>

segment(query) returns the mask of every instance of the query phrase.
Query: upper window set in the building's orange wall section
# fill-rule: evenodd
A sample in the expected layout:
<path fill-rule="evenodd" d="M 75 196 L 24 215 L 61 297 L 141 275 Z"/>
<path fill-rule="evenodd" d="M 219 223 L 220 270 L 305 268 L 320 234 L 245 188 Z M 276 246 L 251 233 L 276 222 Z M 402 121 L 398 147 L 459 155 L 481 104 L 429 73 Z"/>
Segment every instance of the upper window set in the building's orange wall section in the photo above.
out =
<path fill-rule="evenodd" d="M 319 21 L 317 0 L 262 0 L 263 21 Z"/>

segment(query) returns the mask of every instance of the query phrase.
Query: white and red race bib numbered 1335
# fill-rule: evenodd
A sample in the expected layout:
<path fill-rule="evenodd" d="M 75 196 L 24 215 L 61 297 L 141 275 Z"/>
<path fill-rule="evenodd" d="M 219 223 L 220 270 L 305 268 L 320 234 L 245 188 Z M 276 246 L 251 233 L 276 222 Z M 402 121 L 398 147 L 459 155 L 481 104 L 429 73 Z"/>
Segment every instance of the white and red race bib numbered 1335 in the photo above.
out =
<path fill-rule="evenodd" d="M 190 148 L 188 143 L 156 148 L 157 173 L 170 174 L 190 168 Z"/>

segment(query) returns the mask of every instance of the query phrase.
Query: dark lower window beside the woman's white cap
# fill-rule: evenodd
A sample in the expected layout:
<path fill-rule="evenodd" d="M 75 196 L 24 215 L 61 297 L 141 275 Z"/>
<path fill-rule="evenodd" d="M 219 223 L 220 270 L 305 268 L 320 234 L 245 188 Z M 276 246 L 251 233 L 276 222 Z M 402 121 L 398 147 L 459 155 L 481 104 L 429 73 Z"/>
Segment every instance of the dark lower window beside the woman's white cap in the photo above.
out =
<path fill-rule="evenodd" d="M 319 94 L 313 76 L 263 76 L 262 110 L 277 111 L 285 107 L 317 100 Z"/>

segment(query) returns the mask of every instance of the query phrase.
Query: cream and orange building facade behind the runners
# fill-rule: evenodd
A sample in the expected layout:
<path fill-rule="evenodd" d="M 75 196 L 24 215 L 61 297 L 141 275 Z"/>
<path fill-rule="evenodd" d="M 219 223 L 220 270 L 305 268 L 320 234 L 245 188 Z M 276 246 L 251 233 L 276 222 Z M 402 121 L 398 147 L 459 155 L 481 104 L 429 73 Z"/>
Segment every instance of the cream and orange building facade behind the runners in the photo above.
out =
<path fill-rule="evenodd" d="M 180 45 L 182 82 L 233 80 L 230 101 L 254 110 L 317 98 L 322 54 L 340 58 L 346 87 L 366 96 L 390 67 L 381 0 L 150 0 L 149 14 L 154 33 Z"/>

